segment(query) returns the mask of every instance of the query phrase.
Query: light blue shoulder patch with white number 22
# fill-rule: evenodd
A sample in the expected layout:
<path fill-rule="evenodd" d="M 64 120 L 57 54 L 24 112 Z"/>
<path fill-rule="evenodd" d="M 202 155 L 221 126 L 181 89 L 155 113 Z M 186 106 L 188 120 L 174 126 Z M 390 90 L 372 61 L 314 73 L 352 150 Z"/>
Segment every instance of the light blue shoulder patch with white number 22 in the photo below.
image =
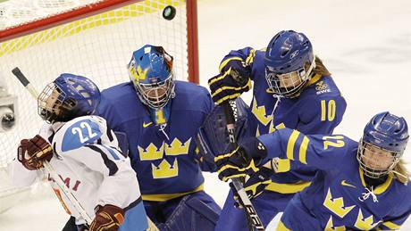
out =
<path fill-rule="evenodd" d="M 69 152 L 95 143 L 106 131 L 105 119 L 99 116 L 81 116 L 59 128 L 55 132 L 53 143 L 57 151 Z"/>

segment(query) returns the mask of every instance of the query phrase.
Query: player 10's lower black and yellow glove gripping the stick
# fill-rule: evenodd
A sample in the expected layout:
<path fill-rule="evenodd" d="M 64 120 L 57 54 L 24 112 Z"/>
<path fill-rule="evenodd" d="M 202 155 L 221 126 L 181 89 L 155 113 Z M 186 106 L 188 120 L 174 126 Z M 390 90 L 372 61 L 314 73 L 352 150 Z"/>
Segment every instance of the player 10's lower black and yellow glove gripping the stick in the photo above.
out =
<path fill-rule="evenodd" d="M 244 184 L 244 190 L 250 200 L 253 200 L 259 194 L 262 194 L 265 187 L 272 183 L 271 177 L 274 173 L 275 172 L 272 169 L 262 167 L 250 175 Z"/>

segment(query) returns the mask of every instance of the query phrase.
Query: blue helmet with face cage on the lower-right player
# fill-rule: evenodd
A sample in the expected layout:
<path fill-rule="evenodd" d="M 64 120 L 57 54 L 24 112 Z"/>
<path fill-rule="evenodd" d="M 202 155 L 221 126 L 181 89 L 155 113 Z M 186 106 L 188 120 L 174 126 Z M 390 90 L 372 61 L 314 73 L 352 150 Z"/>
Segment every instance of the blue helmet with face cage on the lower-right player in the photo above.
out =
<path fill-rule="evenodd" d="M 381 177 L 390 173 L 401 158 L 408 142 L 407 121 L 402 117 L 384 111 L 373 116 L 364 128 L 358 146 L 357 160 L 368 177 Z M 392 155 L 392 163 L 386 169 L 374 169 L 366 164 L 365 149 L 380 150 Z M 375 153 L 374 151 L 371 151 Z"/>

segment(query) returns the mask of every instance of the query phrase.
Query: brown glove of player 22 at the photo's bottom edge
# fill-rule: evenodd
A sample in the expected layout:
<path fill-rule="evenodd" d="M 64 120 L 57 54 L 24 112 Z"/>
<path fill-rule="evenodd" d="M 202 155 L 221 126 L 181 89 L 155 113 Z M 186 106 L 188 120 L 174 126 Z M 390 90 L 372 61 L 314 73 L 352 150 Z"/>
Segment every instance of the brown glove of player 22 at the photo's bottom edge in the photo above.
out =
<path fill-rule="evenodd" d="M 106 204 L 96 207 L 96 218 L 91 222 L 89 231 L 117 231 L 124 222 L 124 210 Z"/>

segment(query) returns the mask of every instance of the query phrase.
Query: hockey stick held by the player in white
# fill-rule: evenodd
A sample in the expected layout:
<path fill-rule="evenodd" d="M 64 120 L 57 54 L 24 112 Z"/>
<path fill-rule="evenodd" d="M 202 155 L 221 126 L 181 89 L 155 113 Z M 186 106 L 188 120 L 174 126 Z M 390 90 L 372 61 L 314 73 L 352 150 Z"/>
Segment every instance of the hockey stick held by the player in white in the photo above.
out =
<path fill-rule="evenodd" d="M 38 91 L 36 90 L 36 88 L 34 88 L 30 84 L 29 79 L 27 79 L 23 75 L 23 73 L 21 73 L 21 70 L 16 67 L 12 70 L 12 72 L 13 72 L 14 76 L 19 79 L 21 84 L 24 87 L 26 87 L 26 89 L 29 91 L 30 95 L 33 96 L 33 98 L 37 100 L 38 99 Z M 91 219 L 91 217 L 88 216 L 87 211 L 83 208 L 83 206 L 81 206 L 80 202 L 77 200 L 77 198 L 74 196 L 74 194 L 71 193 L 70 188 L 67 187 L 64 184 L 63 179 L 58 176 L 57 172 L 55 171 L 53 166 L 48 161 L 44 161 L 43 165 L 46 169 L 46 172 L 48 174 L 50 174 L 50 176 L 55 179 L 55 184 L 57 184 L 57 186 L 63 191 L 63 194 L 69 199 L 69 201 L 71 202 L 71 205 L 74 207 L 74 209 L 76 209 L 80 213 L 80 216 L 83 219 L 86 220 L 86 222 L 89 226 L 91 224 L 91 222 L 93 221 L 93 219 Z"/>

